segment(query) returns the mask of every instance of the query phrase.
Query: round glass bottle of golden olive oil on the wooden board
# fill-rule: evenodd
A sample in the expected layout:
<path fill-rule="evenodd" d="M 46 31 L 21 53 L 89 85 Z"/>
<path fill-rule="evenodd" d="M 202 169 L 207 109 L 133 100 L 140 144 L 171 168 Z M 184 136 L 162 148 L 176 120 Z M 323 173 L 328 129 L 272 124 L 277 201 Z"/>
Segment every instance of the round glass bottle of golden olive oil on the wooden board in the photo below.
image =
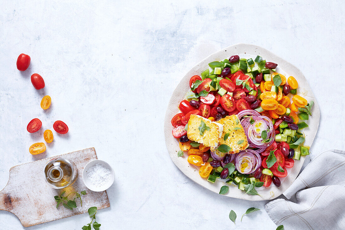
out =
<path fill-rule="evenodd" d="M 77 178 L 76 167 L 61 157 L 48 161 L 44 172 L 47 183 L 54 189 L 66 188 Z"/>

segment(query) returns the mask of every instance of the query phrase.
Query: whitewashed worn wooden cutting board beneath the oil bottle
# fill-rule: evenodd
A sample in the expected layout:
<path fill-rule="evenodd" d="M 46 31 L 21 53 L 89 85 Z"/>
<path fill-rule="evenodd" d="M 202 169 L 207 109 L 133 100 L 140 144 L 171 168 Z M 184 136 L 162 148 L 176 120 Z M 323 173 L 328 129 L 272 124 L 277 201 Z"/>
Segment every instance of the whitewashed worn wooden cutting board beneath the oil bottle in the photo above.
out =
<path fill-rule="evenodd" d="M 53 189 L 45 181 L 44 166 L 54 157 L 63 157 L 77 167 L 76 181 L 65 189 Z M 11 167 L 8 183 L 0 192 L 0 210 L 12 212 L 24 227 L 85 213 L 93 206 L 97 209 L 110 207 L 106 191 L 93 192 L 87 189 L 82 181 L 84 166 L 89 161 L 97 159 L 95 148 L 54 157 Z M 76 199 L 77 208 L 73 210 L 62 205 L 56 208 L 54 196 L 60 195 L 63 191 L 68 194 L 72 191 L 80 193 L 83 190 L 86 190 L 86 195 L 81 195 L 82 207 Z"/>

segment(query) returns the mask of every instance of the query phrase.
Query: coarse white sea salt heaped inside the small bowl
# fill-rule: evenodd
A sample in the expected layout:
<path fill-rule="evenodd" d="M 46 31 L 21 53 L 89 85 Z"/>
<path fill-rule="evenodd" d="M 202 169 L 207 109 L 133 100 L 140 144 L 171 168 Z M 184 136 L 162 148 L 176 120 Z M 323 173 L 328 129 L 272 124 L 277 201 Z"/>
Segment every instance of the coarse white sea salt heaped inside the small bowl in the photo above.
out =
<path fill-rule="evenodd" d="M 97 187 L 105 185 L 111 179 L 110 170 L 99 163 L 90 167 L 86 175 L 90 182 Z"/>

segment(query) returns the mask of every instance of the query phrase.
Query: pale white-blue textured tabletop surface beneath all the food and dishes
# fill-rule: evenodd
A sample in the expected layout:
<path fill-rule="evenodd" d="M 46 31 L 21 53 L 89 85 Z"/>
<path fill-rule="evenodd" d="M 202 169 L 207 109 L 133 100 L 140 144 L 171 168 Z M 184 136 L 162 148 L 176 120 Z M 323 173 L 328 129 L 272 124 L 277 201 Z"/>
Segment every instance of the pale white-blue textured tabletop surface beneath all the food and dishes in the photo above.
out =
<path fill-rule="evenodd" d="M 97 214 L 103 230 L 275 229 L 264 210 L 239 221 L 266 201 L 222 197 L 184 176 L 167 153 L 163 121 L 172 91 L 191 67 L 244 42 L 274 52 L 308 79 L 321 110 L 310 159 L 344 149 L 345 6 L 309 2 L 0 0 L 0 187 L 13 165 L 95 147 L 116 175 L 111 207 Z M 22 52 L 31 56 L 23 73 L 16 69 Z M 33 88 L 33 73 L 45 79 L 44 89 Z M 52 98 L 48 111 L 39 105 L 44 95 Z M 30 134 L 26 126 L 35 117 L 43 126 Z M 45 154 L 29 154 L 56 120 L 69 126 L 68 135 L 53 131 Z M 82 214 L 27 229 L 81 229 L 89 221 Z M 0 222 L 22 229 L 6 211 Z"/>

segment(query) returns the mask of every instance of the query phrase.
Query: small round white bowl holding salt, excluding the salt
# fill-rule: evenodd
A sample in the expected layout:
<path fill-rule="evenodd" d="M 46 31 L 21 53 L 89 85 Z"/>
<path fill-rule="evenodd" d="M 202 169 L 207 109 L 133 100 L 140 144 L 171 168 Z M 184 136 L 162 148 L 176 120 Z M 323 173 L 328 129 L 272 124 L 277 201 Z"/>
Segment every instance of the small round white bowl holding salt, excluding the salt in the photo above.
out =
<path fill-rule="evenodd" d="M 92 184 L 91 181 L 89 180 L 88 176 L 87 176 L 87 171 L 93 165 L 95 165 L 97 163 L 102 165 L 103 167 L 109 169 L 109 171 L 110 171 L 110 180 L 102 186 Z M 84 182 L 85 186 L 88 189 L 90 189 L 91 191 L 94 191 L 94 192 L 102 192 L 102 191 L 109 189 L 110 186 L 112 185 L 112 183 L 114 183 L 115 174 L 114 174 L 114 170 L 112 169 L 112 167 L 107 162 L 101 161 L 101 160 L 93 160 L 93 161 L 90 161 L 89 163 L 87 163 L 85 165 L 85 167 L 83 169 L 83 173 L 82 173 L 82 178 L 83 178 L 83 182 Z"/>

